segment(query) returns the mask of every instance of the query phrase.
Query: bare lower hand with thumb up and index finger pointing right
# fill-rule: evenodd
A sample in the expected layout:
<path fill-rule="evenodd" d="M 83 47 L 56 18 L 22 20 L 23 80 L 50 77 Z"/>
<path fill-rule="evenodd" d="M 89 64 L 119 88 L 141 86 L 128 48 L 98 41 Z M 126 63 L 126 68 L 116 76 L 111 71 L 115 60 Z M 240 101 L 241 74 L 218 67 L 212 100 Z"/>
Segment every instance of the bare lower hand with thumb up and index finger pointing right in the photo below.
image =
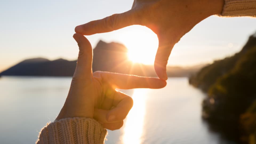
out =
<path fill-rule="evenodd" d="M 81 34 L 74 34 L 79 46 L 77 66 L 69 94 L 56 120 L 70 117 L 94 118 L 110 130 L 123 125 L 133 100 L 118 89 L 162 88 L 166 81 L 157 78 L 96 71 L 92 73 L 92 47 Z"/>

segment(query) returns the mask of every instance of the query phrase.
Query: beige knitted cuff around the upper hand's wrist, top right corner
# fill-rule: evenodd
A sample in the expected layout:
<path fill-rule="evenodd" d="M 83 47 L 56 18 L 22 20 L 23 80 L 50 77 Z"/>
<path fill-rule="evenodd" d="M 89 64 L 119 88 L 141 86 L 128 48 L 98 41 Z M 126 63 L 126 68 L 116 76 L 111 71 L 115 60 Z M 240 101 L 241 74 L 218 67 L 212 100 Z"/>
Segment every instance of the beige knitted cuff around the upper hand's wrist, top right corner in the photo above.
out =
<path fill-rule="evenodd" d="M 222 17 L 256 17 L 256 0 L 225 0 Z"/>

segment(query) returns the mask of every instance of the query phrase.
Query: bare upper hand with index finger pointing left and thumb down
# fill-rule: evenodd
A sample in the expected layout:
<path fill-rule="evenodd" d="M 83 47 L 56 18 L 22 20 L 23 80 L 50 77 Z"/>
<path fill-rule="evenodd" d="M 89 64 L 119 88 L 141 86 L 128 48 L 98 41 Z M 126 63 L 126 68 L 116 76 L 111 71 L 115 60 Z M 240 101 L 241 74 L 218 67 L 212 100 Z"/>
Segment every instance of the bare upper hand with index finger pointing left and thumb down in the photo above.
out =
<path fill-rule="evenodd" d="M 130 25 L 147 26 L 159 40 L 155 72 L 166 80 L 166 65 L 174 44 L 203 19 L 220 14 L 223 3 L 224 0 L 134 0 L 131 10 L 77 26 L 75 32 L 92 35 Z"/>

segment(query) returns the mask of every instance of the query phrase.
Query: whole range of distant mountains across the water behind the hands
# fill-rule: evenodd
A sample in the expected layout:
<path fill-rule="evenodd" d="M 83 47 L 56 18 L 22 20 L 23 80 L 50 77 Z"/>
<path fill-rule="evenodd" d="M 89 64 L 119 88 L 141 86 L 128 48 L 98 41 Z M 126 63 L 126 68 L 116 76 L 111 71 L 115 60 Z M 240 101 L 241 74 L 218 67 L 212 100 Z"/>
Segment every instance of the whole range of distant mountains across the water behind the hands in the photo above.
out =
<path fill-rule="evenodd" d="M 19 76 L 72 76 L 76 61 L 45 58 L 26 59 L 0 73 L 0 75 Z M 194 67 L 167 67 L 169 77 L 188 77 L 197 72 L 203 65 Z M 154 66 L 132 63 L 127 57 L 127 48 L 120 43 L 99 41 L 93 49 L 93 71 L 110 71 L 155 77 Z"/>

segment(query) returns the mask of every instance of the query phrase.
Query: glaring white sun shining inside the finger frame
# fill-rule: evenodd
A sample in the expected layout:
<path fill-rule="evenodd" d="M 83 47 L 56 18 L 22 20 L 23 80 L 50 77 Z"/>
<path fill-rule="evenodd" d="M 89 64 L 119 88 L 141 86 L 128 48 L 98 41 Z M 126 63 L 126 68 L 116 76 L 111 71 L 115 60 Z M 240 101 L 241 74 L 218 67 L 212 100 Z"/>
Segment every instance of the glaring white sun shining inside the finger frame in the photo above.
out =
<path fill-rule="evenodd" d="M 134 63 L 153 65 L 158 47 L 157 35 L 145 26 L 133 26 L 127 30 L 123 43 L 127 56 Z"/>

